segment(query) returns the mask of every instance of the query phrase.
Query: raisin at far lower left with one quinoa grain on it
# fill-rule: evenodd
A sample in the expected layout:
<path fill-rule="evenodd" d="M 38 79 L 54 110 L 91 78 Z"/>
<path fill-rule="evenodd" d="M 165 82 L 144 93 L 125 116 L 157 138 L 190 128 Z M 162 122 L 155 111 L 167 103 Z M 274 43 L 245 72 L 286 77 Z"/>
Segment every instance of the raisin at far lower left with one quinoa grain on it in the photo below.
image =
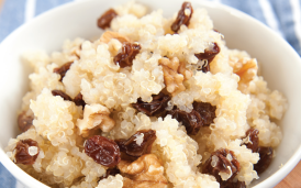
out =
<path fill-rule="evenodd" d="M 32 155 L 30 154 L 30 147 L 35 146 L 37 147 L 37 153 Z M 38 144 L 36 141 L 26 139 L 26 140 L 20 140 L 16 143 L 15 146 L 15 155 L 14 155 L 14 163 L 15 164 L 23 164 L 23 165 L 33 165 L 34 162 L 37 158 L 37 155 L 40 153 Z"/>

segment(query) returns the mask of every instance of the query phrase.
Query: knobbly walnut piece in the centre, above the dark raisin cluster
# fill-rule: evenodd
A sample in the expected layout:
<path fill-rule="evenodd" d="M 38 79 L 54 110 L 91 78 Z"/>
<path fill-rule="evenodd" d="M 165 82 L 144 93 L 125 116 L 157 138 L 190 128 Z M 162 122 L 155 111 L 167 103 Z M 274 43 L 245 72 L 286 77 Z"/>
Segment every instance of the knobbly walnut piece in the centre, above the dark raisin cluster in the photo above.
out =
<path fill-rule="evenodd" d="M 171 59 L 164 57 L 159 59 L 159 65 L 163 67 L 164 81 L 168 92 L 175 96 L 186 90 L 182 82 L 189 79 L 192 73 L 186 69 L 185 63 L 180 63 L 177 57 Z"/>

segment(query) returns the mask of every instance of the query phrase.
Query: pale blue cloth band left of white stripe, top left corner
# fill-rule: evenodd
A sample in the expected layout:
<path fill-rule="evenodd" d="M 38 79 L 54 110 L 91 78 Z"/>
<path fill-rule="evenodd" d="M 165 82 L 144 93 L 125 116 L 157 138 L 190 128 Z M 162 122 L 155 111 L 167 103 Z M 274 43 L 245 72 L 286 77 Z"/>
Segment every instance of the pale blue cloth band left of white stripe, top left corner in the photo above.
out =
<path fill-rule="evenodd" d="M 24 23 L 25 0 L 5 0 L 0 12 L 0 42 Z"/>

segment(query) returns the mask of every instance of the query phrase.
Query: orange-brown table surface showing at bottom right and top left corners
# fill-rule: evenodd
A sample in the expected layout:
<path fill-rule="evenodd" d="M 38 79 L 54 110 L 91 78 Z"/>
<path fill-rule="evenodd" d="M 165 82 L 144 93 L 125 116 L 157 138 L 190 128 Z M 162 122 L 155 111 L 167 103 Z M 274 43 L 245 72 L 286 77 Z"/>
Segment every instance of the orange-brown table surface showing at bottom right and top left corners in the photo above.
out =
<path fill-rule="evenodd" d="M 0 0 L 0 11 L 3 0 Z M 275 188 L 301 188 L 301 162 Z"/>

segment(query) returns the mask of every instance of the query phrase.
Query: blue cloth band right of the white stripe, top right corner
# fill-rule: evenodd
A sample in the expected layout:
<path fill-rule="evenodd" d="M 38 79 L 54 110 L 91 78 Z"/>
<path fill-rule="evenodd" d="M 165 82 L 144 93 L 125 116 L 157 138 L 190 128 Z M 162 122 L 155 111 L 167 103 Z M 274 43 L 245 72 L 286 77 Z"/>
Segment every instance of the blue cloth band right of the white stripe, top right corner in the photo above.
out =
<path fill-rule="evenodd" d="M 279 27 L 285 34 L 285 38 L 299 53 L 299 55 L 301 55 L 300 43 L 294 33 L 294 23 L 290 2 L 287 0 L 270 0 L 270 3 L 275 10 L 277 19 L 279 20 Z"/>

